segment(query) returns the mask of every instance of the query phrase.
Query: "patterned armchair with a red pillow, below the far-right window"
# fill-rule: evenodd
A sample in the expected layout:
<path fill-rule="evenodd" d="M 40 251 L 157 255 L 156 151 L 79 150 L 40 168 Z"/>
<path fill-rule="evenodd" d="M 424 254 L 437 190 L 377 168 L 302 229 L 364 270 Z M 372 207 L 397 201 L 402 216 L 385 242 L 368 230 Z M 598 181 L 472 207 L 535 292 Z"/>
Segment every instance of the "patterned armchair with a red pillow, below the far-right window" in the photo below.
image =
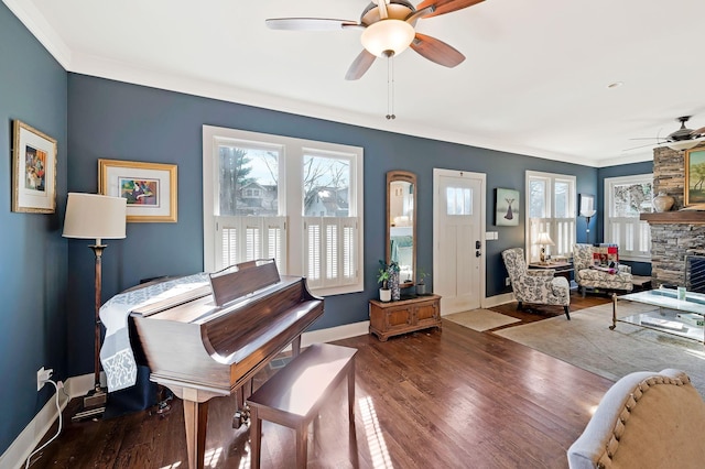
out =
<path fill-rule="evenodd" d="M 586 288 L 630 292 L 634 287 L 629 265 L 618 264 L 610 271 L 604 271 L 594 269 L 593 262 L 592 244 L 575 244 L 573 247 L 575 282 L 581 287 L 583 296 L 585 296 Z"/>

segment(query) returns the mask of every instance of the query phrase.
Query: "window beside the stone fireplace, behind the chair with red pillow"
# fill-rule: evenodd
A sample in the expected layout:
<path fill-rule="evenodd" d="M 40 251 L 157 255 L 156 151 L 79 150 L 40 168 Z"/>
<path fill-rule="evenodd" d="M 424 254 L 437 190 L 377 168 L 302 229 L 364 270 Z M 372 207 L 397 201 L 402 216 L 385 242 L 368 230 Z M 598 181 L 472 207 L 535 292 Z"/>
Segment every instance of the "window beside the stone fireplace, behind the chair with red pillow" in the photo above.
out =
<path fill-rule="evenodd" d="M 619 246 L 619 259 L 651 261 L 651 229 L 639 214 L 652 211 L 653 174 L 605 179 L 605 242 Z"/>

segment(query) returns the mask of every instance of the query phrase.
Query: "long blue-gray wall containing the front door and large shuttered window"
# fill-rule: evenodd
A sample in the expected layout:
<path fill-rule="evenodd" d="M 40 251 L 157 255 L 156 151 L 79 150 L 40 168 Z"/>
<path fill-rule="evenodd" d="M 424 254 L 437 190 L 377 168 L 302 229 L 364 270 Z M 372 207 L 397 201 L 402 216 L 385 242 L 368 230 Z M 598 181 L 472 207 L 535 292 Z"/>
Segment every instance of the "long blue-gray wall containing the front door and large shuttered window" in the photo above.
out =
<path fill-rule="evenodd" d="M 178 222 L 129 223 L 127 239 L 113 242 L 104 255 L 106 297 L 134 285 L 142 277 L 177 275 L 203 270 L 202 126 L 204 123 L 322 140 L 365 149 L 365 292 L 329 297 L 326 315 L 314 327 L 330 327 L 367 319 L 367 302 L 377 296 L 373 273 L 384 257 L 386 172 L 408 170 L 419 177 L 419 265 L 432 263 L 433 168 L 463 170 L 487 174 L 488 207 L 496 187 L 517 188 L 523 194 L 524 171 L 545 171 L 577 176 L 578 192 L 595 193 L 597 170 L 536 157 L 495 152 L 454 143 L 382 132 L 283 112 L 164 91 L 119 81 L 69 74 L 68 129 L 72 171 L 68 188 L 97 189 L 99 157 L 175 163 L 178 165 Z M 523 246 L 524 215 L 519 227 L 489 230 L 499 240 L 487 244 L 487 295 L 505 291 L 503 249 Z M 111 252 L 112 251 L 112 252 Z M 88 277 L 90 252 L 80 242 L 69 242 L 69 272 Z M 72 324 L 83 323 L 90 309 L 90 282 L 70 282 Z M 87 326 L 86 326 L 87 327 Z M 85 371 L 89 357 L 76 329 L 69 343 L 76 347 L 68 362 Z"/>

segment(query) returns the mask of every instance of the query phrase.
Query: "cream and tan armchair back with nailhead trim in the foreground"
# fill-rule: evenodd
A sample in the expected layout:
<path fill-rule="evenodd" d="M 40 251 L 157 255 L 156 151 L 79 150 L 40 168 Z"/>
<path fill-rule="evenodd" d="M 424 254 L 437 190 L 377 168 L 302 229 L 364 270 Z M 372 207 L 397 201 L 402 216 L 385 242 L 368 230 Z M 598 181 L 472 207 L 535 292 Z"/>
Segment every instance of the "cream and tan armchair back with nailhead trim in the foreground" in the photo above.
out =
<path fill-rule="evenodd" d="M 571 469 L 702 468 L 705 403 L 685 372 L 637 371 L 603 396 L 567 450 Z"/>

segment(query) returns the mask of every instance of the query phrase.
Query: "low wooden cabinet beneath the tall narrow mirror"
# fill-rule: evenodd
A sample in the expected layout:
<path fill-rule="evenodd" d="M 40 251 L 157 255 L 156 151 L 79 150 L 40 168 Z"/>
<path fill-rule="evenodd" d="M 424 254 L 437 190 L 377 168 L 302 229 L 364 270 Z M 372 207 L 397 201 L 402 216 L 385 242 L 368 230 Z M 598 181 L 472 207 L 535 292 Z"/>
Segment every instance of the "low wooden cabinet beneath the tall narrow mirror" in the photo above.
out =
<path fill-rule="evenodd" d="M 391 336 L 437 327 L 441 330 L 441 296 L 422 295 L 399 302 L 370 299 L 370 334 L 386 341 Z"/>

